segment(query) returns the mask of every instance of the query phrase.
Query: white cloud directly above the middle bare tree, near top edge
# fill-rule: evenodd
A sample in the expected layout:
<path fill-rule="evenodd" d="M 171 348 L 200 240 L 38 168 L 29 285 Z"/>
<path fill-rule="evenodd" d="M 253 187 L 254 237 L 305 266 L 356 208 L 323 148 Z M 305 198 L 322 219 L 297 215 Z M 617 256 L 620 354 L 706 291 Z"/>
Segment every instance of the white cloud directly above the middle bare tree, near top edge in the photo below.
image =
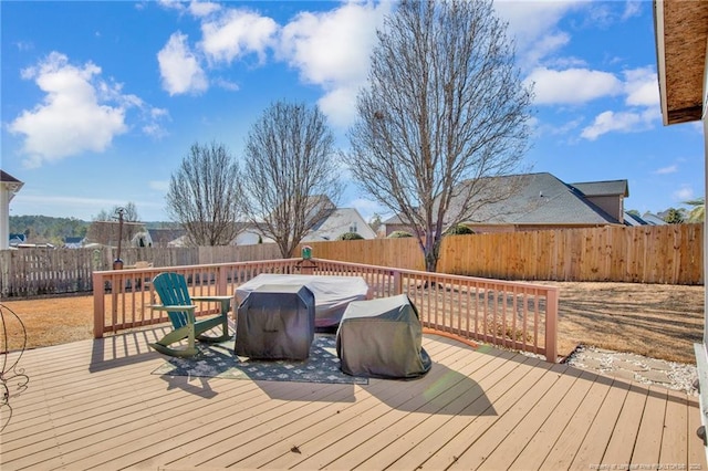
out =
<path fill-rule="evenodd" d="M 199 46 L 214 62 L 230 63 L 249 53 L 256 53 L 262 62 L 277 31 L 278 24 L 270 18 L 247 10 L 228 10 L 201 25 Z"/>

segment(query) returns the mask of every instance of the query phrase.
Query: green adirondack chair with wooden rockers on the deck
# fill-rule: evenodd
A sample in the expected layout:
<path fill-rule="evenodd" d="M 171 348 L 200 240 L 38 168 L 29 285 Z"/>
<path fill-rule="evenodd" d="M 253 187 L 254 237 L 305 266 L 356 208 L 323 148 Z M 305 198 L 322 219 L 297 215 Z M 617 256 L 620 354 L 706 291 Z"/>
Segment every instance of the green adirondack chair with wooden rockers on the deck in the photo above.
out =
<path fill-rule="evenodd" d="M 159 295 L 162 304 L 153 304 L 152 308 L 167 311 L 174 331 L 165 335 L 159 342 L 149 344 L 157 352 L 178 357 L 189 357 L 197 354 L 195 341 L 225 342 L 229 335 L 228 313 L 232 296 L 189 296 L 187 281 L 178 273 L 165 272 L 153 279 L 153 287 Z M 217 316 L 197 320 L 197 306 L 192 301 L 215 301 L 221 303 L 221 312 Z M 210 337 L 205 332 L 221 325 L 222 335 Z M 187 339 L 187 347 L 175 348 L 170 345 Z"/>

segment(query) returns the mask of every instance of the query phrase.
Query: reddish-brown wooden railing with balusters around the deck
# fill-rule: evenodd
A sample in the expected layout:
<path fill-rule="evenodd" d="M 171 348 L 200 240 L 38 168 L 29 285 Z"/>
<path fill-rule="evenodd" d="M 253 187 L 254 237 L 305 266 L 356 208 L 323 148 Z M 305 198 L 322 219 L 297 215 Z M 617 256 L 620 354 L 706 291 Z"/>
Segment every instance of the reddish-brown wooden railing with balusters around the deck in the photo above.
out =
<path fill-rule="evenodd" d="M 93 273 L 94 337 L 168 322 L 149 305 L 157 300 L 149 281 L 165 268 Z M 374 297 L 407 294 L 424 327 L 494 346 L 558 356 L 558 289 L 531 283 L 391 269 L 332 260 L 282 259 L 260 262 L 171 266 L 187 278 L 192 295 L 233 294 L 260 273 L 362 276 Z M 205 303 L 198 315 L 218 312 Z"/>

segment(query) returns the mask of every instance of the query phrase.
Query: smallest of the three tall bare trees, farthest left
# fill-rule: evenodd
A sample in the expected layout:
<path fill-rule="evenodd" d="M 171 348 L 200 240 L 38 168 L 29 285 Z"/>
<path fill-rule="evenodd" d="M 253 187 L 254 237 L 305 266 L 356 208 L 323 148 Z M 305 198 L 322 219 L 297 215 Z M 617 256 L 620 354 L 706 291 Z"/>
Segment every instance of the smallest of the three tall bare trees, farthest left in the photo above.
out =
<path fill-rule="evenodd" d="M 238 236 L 239 166 L 221 144 L 192 144 L 169 180 L 167 212 L 194 245 L 228 245 Z"/>

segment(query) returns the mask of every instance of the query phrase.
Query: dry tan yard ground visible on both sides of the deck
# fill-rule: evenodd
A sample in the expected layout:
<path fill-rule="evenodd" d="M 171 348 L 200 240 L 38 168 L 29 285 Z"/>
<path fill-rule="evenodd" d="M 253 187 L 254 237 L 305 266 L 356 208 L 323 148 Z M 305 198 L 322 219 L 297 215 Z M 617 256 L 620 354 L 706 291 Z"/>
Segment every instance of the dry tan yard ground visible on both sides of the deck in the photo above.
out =
<path fill-rule="evenodd" d="M 694 343 L 702 338 L 704 286 L 634 283 L 556 283 L 560 289 L 559 353 L 577 345 L 632 352 L 654 358 L 694 363 Z M 92 337 L 92 296 L 0 300 L 10 349 L 21 346 L 20 323 L 28 348 Z M 1 332 L 0 332 L 1 334 Z M 0 350 L 7 348 L 0 335 Z"/>

